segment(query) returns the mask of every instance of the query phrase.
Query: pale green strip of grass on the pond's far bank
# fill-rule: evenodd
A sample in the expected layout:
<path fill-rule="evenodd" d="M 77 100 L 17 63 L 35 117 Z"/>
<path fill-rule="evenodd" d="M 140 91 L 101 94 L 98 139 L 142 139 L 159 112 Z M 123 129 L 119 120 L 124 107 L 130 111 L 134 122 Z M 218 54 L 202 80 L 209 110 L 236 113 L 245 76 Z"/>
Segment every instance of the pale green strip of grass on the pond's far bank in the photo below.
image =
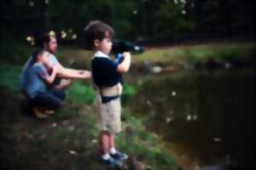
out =
<path fill-rule="evenodd" d="M 184 45 L 166 48 L 146 48 L 145 53 L 134 56 L 137 62 L 149 59 L 166 65 L 185 65 L 190 62 L 206 61 L 209 58 L 225 61 L 232 58 L 251 57 L 255 53 L 253 42 L 226 42 L 204 45 Z"/>

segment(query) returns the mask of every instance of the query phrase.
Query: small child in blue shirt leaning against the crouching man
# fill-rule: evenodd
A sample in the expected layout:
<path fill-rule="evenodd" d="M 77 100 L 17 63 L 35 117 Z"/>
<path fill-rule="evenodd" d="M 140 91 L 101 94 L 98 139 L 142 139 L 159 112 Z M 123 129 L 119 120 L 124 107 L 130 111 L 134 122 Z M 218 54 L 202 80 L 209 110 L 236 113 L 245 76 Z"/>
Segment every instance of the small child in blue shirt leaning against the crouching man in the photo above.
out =
<path fill-rule="evenodd" d="M 57 89 L 48 90 L 56 76 L 55 66 L 49 65 L 49 52 L 38 49 L 32 54 L 34 63 L 27 75 L 26 87 L 21 87 L 32 111 L 38 118 L 47 117 L 49 110 L 55 110 L 61 106 L 64 94 Z M 50 75 L 49 75 L 50 72 Z"/>

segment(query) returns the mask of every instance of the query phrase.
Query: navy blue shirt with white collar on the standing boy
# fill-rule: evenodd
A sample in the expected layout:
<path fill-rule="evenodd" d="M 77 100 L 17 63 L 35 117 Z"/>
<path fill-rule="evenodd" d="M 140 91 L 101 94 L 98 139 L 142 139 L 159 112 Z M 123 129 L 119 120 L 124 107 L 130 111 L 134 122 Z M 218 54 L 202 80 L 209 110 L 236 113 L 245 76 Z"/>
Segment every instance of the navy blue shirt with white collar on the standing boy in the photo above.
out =
<path fill-rule="evenodd" d="M 122 82 L 122 74 L 117 71 L 119 63 L 110 59 L 107 54 L 97 51 L 91 60 L 92 79 L 98 88 L 112 87 Z M 102 96 L 102 103 L 107 103 L 119 96 Z"/>

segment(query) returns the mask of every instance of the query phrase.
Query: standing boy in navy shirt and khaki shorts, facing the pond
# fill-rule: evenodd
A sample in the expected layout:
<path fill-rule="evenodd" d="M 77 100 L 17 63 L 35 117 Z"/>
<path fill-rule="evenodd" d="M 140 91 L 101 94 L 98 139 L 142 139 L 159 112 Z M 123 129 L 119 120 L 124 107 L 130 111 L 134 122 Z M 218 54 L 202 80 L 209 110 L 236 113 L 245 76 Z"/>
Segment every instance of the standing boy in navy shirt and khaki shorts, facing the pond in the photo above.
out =
<path fill-rule="evenodd" d="M 115 149 L 114 135 L 121 131 L 122 73 L 127 72 L 131 65 L 131 54 L 122 54 L 122 60 L 117 63 L 108 54 L 112 48 L 113 28 L 100 20 L 91 21 L 85 27 L 88 48 L 94 52 L 91 60 L 93 82 L 97 88 L 96 109 L 98 115 L 96 126 L 101 131 L 99 144 L 101 160 L 113 167 L 122 165 L 128 156 Z"/>

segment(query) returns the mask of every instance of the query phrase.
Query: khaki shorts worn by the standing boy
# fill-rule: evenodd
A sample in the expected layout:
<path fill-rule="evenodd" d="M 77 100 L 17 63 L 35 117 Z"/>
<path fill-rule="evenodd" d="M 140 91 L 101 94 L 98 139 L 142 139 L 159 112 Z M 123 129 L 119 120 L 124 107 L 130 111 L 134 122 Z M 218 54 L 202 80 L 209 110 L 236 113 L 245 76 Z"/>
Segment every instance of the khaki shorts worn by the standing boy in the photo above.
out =
<path fill-rule="evenodd" d="M 100 94 L 96 95 L 96 127 L 108 133 L 121 132 L 121 103 L 120 98 L 102 104 Z"/>

